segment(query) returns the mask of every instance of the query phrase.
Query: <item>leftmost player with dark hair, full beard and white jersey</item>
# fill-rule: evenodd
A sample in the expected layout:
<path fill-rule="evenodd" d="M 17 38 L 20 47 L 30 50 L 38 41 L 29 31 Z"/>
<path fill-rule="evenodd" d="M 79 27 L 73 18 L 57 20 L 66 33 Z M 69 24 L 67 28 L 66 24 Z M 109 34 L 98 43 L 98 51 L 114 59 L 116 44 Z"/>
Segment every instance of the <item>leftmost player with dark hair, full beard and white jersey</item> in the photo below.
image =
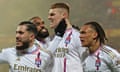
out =
<path fill-rule="evenodd" d="M 66 26 L 63 27 L 65 32 Z M 9 72 L 51 72 L 52 54 L 35 43 L 36 35 L 37 28 L 33 23 L 21 22 L 16 29 L 16 46 L 0 52 L 0 64 L 9 64 Z M 56 48 L 61 39 L 62 36 L 56 34 L 50 47 Z"/>

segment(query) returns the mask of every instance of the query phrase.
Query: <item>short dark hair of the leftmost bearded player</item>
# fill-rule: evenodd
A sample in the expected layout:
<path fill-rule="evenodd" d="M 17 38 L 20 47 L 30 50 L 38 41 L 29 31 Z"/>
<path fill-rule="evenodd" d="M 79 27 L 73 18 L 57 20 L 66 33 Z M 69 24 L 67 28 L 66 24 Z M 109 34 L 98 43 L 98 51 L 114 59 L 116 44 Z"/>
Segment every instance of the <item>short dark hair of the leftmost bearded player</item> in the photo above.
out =
<path fill-rule="evenodd" d="M 29 32 L 33 32 L 34 35 L 37 36 L 37 33 L 38 33 L 37 28 L 32 22 L 30 22 L 30 21 L 22 21 L 22 22 L 20 22 L 19 26 L 20 25 L 26 25 L 27 26 L 26 30 L 29 31 Z"/>

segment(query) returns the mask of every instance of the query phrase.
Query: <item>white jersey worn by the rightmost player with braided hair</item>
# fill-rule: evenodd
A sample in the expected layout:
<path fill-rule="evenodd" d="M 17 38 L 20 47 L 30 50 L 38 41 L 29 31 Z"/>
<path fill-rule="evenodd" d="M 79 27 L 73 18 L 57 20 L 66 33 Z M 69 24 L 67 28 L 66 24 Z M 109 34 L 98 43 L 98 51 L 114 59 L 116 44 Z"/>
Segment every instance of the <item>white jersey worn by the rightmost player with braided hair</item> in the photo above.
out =
<path fill-rule="evenodd" d="M 120 72 L 119 53 L 109 47 L 101 46 L 83 62 L 84 72 Z"/>

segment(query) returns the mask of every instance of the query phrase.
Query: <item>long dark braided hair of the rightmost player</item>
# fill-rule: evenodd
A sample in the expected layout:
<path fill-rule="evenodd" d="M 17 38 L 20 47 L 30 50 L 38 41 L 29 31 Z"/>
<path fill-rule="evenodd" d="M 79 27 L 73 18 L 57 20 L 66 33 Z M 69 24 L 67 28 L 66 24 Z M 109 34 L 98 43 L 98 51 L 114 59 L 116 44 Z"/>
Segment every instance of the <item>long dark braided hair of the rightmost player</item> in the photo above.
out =
<path fill-rule="evenodd" d="M 105 40 L 108 40 L 102 26 L 95 21 L 87 22 L 84 25 L 91 25 L 91 27 L 98 33 L 97 40 L 100 39 L 101 44 L 105 44 Z"/>

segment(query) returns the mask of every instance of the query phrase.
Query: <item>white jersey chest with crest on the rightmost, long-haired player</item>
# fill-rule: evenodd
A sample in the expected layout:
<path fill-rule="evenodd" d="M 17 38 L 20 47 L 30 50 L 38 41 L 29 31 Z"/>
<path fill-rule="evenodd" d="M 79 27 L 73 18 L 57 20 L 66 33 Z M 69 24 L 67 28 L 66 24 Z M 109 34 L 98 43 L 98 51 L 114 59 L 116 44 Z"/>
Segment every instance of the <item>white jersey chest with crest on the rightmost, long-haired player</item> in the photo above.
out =
<path fill-rule="evenodd" d="M 84 64 L 83 64 L 85 72 L 105 72 L 106 70 L 109 70 L 109 67 L 107 66 L 106 62 L 104 61 L 104 56 L 100 55 L 99 59 L 94 56 L 90 55 L 86 58 Z"/>

